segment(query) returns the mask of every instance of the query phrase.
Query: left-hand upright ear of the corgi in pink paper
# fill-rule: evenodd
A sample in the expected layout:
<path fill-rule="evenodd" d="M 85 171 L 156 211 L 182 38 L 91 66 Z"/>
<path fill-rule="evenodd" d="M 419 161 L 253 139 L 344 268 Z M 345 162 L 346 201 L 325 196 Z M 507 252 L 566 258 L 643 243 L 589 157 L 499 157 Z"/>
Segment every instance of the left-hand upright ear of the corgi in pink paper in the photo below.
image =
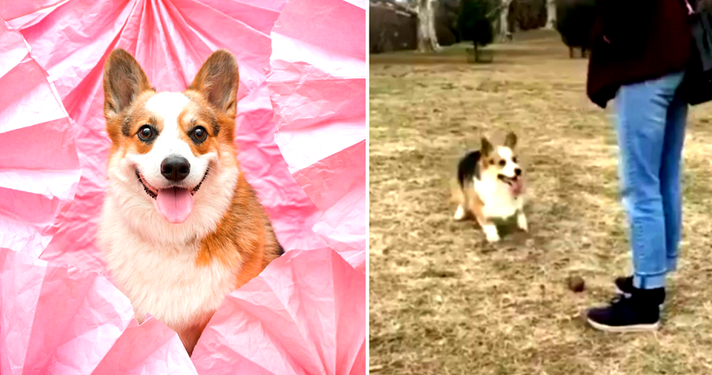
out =
<path fill-rule="evenodd" d="M 134 56 L 122 49 L 111 52 L 104 64 L 104 117 L 107 121 L 147 90 L 153 87 Z"/>

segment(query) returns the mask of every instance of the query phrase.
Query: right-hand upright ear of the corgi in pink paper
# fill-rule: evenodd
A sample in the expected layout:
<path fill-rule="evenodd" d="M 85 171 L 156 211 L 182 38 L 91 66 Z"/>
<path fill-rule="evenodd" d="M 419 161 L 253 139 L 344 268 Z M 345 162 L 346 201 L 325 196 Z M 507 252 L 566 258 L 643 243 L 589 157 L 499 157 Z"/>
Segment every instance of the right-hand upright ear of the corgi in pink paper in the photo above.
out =
<path fill-rule="evenodd" d="M 188 90 L 200 92 L 215 109 L 235 118 L 238 84 L 238 61 L 227 50 L 217 50 L 198 70 Z"/>

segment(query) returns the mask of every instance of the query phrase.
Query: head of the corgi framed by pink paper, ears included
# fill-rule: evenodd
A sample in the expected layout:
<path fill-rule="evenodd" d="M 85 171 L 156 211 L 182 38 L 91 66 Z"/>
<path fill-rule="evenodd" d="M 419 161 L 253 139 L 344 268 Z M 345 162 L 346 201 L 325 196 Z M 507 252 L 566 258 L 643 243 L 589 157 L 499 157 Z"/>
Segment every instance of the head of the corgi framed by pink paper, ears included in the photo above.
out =
<path fill-rule="evenodd" d="M 237 61 L 224 50 L 206 60 L 185 92 L 156 92 L 134 57 L 111 52 L 103 83 L 108 174 L 123 209 L 177 224 L 191 212 L 206 214 L 207 208 L 198 212 L 201 194 L 217 188 L 231 194 L 239 174 L 238 83 Z"/>

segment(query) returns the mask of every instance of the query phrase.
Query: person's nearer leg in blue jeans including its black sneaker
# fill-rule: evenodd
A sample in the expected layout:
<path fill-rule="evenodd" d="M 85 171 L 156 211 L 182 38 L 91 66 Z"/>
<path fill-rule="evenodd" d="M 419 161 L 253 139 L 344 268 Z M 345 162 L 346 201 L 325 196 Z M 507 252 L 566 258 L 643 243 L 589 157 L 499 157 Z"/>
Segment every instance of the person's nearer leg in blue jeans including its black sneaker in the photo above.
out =
<path fill-rule="evenodd" d="M 682 77 L 679 73 L 626 85 L 616 95 L 620 186 L 630 226 L 635 288 L 630 298 L 588 311 L 588 322 L 597 329 L 648 331 L 659 325 L 658 305 L 665 299 L 667 273 L 666 203 L 661 176 L 670 180 L 675 172 L 665 164 L 662 174 L 663 158 L 674 151 L 667 150 L 675 143 L 674 133 L 667 137 L 668 112 Z"/>

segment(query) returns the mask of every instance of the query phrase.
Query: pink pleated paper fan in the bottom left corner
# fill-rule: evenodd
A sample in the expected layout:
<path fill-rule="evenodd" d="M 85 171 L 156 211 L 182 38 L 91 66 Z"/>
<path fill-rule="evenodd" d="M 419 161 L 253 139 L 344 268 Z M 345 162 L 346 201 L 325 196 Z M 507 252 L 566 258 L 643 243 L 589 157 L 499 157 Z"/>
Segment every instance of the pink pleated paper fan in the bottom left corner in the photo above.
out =
<path fill-rule="evenodd" d="M 0 373 L 195 374 L 181 339 L 96 272 L 0 249 Z"/>

